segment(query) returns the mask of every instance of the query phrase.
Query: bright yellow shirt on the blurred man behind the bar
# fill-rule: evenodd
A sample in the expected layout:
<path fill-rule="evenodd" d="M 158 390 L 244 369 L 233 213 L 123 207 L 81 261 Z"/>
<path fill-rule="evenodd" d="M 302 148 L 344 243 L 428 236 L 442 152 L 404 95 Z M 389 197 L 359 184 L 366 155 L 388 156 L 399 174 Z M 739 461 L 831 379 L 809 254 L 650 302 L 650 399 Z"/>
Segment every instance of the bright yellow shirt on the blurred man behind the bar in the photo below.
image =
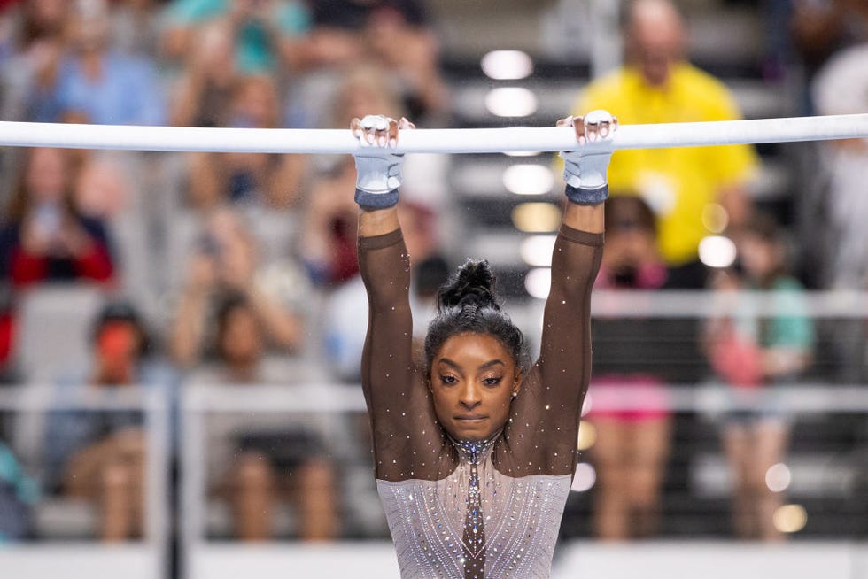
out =
<path fill-rule="evenodd" d="M 611 112 L 624 125 L 740 119 L 724 84 L 686 63 L 673 68 L 663 88 L 648 86 L 632 67 L 591 82 L 574 111 L 595 109 Z M 619 150 L 608 167 L 608 184 L 613 194 L 638 194 L 652 206 L 660 249 L 677 266 L 696 259 L 700 240 L 710 233 L 702 220 L 706 206 L 758 167 L 749 145 Z"/>

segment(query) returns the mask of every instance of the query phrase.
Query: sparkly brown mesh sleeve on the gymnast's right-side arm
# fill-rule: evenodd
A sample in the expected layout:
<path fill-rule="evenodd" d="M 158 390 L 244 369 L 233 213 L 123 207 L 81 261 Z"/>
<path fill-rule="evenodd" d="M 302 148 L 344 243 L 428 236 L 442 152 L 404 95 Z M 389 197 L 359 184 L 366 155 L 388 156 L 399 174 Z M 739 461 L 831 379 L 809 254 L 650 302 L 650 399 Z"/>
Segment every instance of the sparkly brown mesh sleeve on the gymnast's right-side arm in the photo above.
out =
<path fill-rule="evenodd" d="M 575 470 L 578 422 L 591 378 L 591 288 L 602 245 L 602 234 L 565 225 L 554 243 L 539 359 L 510 412 L 508 452 L 499 457 L 505 474 Z"/>

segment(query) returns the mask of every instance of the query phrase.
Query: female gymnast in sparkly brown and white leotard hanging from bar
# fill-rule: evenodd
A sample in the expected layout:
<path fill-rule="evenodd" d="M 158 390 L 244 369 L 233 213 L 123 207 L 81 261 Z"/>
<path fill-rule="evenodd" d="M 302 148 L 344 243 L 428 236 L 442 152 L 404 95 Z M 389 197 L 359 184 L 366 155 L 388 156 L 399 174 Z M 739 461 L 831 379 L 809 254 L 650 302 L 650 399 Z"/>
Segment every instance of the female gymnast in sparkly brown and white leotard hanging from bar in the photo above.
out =
<path fill-rule="evenodd" d="M 590 295 L 600 266 L 610 153 L 604 111 L 572 117 L 577 151 L 562 153 L 568 202 L 554 245 L 541 354 L 500 310 L 487 262 L 468 261 L 440 289 L 415 364 L 410 263 L 396 204 L 399 129 L 354 119 L 359 266 L 368 290 L 362 388 L 374 435 L 376 484 L 401 576 L 548 577 L 576 467 L 590 377 Z"/>

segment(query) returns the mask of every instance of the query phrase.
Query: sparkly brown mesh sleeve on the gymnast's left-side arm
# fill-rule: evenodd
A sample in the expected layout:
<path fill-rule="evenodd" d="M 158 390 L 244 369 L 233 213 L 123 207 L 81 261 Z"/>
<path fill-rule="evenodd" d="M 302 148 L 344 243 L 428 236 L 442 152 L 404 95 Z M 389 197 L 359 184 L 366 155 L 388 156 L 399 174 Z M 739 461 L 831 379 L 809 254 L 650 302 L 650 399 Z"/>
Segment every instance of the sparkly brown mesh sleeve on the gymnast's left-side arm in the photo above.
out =
<path fill-rule="evenodd" d="M 454 468 L 430 390 L 413 357 L 410 260 L 400 229 L 359 238 L 359 269 L 368 291 L 368 336 L 361 385 L 374 437 L 376 477 L 438 480 Z"/>

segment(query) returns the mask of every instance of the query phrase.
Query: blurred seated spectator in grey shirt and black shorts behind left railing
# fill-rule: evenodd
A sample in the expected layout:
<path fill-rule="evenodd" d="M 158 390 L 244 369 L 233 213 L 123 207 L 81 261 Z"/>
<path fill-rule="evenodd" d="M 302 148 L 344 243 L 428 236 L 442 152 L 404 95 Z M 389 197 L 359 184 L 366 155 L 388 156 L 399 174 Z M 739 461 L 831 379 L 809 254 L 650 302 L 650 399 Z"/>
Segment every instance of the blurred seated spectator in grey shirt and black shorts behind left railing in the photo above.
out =
<path fill-rule="evenodd" d="M 265 328 L 257 307 L 244 295 L 230 294 L 221 302 L 216 325 L 217 359 L 194 374 L 191 383 L 285 384 L 298 379 L 280 360 L 264 356 Z M 299 537 L 336 537 L 337 476 L 315 424 L 273 412 L 221 413 L 208 421 L 206 432 L 208 477 L 212 489 L 233 506 L 237 537 L 272 538 L 275 503 L 287 495 L 297 506 Z"/>

